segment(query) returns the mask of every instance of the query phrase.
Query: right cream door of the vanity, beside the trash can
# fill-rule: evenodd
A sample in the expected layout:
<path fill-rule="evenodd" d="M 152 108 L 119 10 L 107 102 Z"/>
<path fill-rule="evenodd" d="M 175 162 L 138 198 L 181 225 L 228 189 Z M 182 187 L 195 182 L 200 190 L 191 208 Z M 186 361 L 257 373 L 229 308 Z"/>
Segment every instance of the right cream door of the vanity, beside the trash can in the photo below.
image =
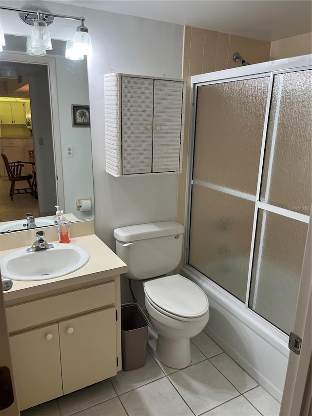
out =
<path fill-rule="evenodd" d="M 59 322 L 64 395 L 117 374 L 116 309 Z"/>

